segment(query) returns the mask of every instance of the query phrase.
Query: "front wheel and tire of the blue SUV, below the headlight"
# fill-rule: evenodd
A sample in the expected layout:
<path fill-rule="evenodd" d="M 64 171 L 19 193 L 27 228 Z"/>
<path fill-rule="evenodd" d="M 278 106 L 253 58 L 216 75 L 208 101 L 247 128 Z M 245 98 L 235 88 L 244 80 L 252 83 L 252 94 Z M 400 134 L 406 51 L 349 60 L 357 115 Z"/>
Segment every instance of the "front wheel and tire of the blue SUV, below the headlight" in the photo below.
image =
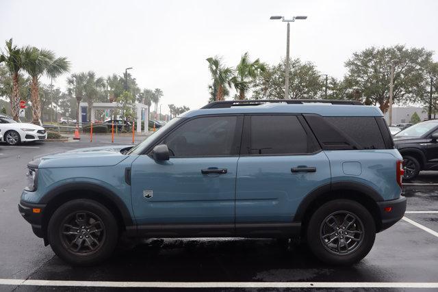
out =
<path fill-rule="evenodd" d="M 62 260 L 71 265 L 96 265 L 113 254 L 118 224 L 103 204 L 77 199 L 53 213 L 47 234 L 53 252 Z"/>

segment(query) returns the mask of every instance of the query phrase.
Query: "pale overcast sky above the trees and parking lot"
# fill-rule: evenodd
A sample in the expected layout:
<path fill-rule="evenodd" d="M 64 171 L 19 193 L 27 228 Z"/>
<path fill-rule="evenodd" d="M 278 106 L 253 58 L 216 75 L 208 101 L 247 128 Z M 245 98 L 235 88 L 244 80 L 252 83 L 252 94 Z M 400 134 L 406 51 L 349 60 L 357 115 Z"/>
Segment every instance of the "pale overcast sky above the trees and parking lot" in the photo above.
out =
<path fill-rule="evenodd" d="M 286 25 L 271 15 L 307 15 L 291 25 L 291 57 L 342 77 L 346 59 L 373 45 L 438 51 L 437 12 L 434 0 L 0 0 L 0 42 L 51 49 L 68 57 L 70 72 L 106 77 L 133 67 L 140 88 L 163 90 L 166 112 L 170 103 L 191 109 L 207 103 L 207 57 L 235 66 L 248 51 L 277 64 L 285 56 Z M 56 80 L 62 90 L 66 76 Z"/>

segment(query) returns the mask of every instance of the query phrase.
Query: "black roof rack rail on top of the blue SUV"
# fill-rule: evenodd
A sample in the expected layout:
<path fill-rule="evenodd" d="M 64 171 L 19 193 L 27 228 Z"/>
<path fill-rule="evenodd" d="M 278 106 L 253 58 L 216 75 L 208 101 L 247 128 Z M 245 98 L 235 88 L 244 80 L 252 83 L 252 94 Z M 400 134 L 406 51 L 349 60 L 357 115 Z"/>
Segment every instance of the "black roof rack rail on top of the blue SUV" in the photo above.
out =
<path fill-rule="evenodd" d="M 239 105 L 263 105 L 263 103 L 287 103 L 302 105 L 303 103 L 330 103 L 332 105 L 363 105 L 360 101 L 337 101 L 333 99 L 249 99 L 243 101 L 213 101 L 201 109 L 220 109 Z"/>

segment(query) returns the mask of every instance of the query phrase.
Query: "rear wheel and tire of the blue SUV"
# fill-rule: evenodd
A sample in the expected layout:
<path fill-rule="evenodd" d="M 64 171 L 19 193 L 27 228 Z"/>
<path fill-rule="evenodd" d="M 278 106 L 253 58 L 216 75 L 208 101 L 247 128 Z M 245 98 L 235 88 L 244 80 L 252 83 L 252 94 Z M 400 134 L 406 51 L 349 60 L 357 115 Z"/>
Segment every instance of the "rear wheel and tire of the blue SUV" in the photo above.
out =
<path fill-rule="evenodd" d="M 342 225 L 348 227 L 344 230 Z M 313 213 L 307 227 L 310 250 L 320 261 L 331 265 L 352 265 L 361 261 L 370 252 L 375 238 L 376 224 L 372 215 L 352 200 L 326 202 Z"/>

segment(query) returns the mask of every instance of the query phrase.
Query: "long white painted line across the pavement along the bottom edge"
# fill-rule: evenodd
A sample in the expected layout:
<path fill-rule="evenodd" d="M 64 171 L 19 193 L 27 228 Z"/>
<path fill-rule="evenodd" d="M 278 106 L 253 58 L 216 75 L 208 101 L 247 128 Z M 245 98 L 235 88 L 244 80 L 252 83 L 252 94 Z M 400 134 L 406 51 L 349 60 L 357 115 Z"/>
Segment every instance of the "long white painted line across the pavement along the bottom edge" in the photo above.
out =
<path fill-rule="evenodd" d="M 438 288 L 438 282 L 112 282 L 0 279 L 4 285 L 116 288 Z"/>

